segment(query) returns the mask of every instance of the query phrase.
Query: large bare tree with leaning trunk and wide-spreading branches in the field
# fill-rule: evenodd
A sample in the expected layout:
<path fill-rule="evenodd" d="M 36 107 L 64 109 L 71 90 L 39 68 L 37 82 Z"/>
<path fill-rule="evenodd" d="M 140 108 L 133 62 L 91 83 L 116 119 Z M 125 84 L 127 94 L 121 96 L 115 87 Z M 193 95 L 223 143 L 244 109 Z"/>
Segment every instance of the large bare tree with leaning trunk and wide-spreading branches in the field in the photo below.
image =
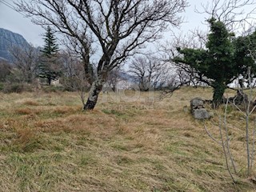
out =
<path fill-rule="evenodd" d="M 54 26 L 82 46 L 83 35 L 92 35 L 98 46 L 97 77 L 84 105 L 84 110 L 92 110 L 110 70 L 146 42 L 160 38 L 168 25 L 178 26 L 182 22 L 178 14 L 186 7 L 186 0 L 34 0 L 16 5 L 18 11 L 33 17 L 34 23 Z"/>

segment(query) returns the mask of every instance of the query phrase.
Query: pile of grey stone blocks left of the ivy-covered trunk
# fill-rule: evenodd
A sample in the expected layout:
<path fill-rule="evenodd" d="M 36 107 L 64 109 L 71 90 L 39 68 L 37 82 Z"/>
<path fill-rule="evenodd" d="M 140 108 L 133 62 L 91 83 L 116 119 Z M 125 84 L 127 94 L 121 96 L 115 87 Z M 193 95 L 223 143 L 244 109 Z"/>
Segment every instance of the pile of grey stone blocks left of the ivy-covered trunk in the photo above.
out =
<path fill-rule="evenodd" d="M 210 118 L 210 114 L 203 106 L 204 102 L 202 98 L 193 98 L 190 101 L 191 112 L 195 119 L 205 119 Z"/>

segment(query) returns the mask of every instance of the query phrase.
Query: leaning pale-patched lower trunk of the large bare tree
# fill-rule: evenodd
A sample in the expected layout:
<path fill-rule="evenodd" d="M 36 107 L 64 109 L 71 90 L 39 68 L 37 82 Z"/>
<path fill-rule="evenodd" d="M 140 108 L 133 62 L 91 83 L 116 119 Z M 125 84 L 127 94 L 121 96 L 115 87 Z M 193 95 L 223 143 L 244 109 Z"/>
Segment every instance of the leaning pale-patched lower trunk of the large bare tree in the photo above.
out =
<path fill-rule="evenodd" d="M 102 91 L 103 81 L 102 78 L 97 78 L 92 86 L 90 87 L 90 92 L 86 104 L 83 106 L 84 110 L 93 110 L 94 106 L 98 101 L 98 94 Z"/>

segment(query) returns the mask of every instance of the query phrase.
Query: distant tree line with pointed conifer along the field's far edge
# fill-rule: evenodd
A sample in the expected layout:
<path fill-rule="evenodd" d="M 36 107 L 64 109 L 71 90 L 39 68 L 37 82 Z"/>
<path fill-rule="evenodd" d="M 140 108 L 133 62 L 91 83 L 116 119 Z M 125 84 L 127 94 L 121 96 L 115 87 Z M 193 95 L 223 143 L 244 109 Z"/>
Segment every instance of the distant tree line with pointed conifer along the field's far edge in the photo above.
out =
<path fill-rule="evenodd" d="M 90 83 L 95 78 L 96 68 L 91 65 L 92 73 L 90 77 L 86 75 L 84 58 L 81 57 L 78 47 L 75 47 L 77 45 L 62 41 L 64 46 L 60 49 L 60 42 L 50 26 L 47 26 L 43 39 L 45 42 L 43 47 L 11 46 L 10 53 L 13 56 L 11 64 L 0 62 L 0 82 L 20 83 L 21 86 L 40 82 L 42 85 L 50 86 L 58 79 L 59 86 L 62 86 L 63 90 L 89 89 Z M 167 86 L 166 83 L 169 81 L 167 67 L 151 55 L 138 56 L 130 61 L 128 70 L 122 70 L 122 66 L 111 70 L 103 89 L 115 91 L 118 89 L 118 83 L 127 81 L 127 78 L 130 84 L 134 83 L 142 91 L 161 89 Z M 129 85 L 125 87 L 129 88 Z M 14 89 L 14 91 L 19 90 Z"/>

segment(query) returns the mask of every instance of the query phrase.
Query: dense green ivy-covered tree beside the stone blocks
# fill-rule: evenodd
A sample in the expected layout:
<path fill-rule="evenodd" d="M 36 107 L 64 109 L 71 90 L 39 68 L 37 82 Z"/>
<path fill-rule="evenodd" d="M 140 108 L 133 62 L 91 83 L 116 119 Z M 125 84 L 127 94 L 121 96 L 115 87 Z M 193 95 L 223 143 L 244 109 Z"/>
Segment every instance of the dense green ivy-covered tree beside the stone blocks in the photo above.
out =
<path fill-rule="evenodd" d="M 234 38 L 234 34 L 226 29 L 223 22 L 214 18 L 208 22 L 210 34 L 208 34 L 206 49 L 178 48 L 182 57 L 174 58 L 174 62 L 191 66 L 201 77 L 199 81 L 213 87 L 213 106 L 218 107 L 222 103 L 227 85 L 238 78 L 238 74 L 244 74 L 247 66 L 251 66 L 254 61 L 248 56 L 246 46 L 248 45 L 246 39 L 250 36 Z"/>

